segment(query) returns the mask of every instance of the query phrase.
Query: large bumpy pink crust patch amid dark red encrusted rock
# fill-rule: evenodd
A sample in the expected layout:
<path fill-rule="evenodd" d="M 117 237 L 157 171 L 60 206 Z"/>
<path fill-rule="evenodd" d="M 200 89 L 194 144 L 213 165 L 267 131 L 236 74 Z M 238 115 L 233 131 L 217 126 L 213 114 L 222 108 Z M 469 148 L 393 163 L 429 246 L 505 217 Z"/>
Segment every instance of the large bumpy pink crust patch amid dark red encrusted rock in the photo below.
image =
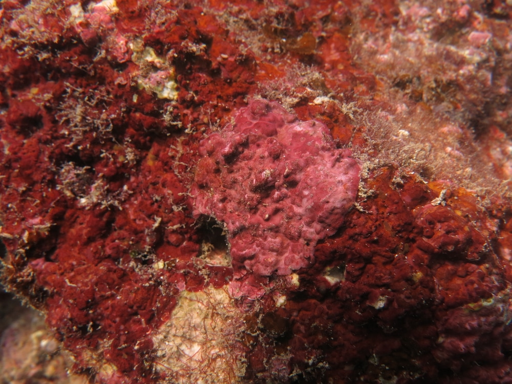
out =
<path fill-rule="evenodd" d="M 194 216 L 225 224 L 236 278 L 313 263 L 314 246 L 343 224 L 359 184 L 351 151 L 277 102 L 251 101 L 201 141 L 200 155 Z"/>

